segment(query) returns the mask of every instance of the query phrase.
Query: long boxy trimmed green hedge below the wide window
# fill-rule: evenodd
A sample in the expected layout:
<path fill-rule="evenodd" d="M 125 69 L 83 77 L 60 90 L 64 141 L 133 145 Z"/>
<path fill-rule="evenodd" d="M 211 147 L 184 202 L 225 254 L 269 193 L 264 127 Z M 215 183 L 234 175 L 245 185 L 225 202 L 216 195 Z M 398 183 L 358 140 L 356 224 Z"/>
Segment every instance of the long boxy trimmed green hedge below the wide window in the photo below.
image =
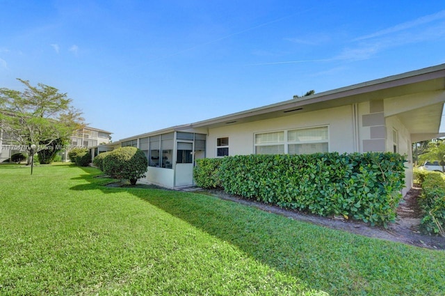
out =
<path fill-rule="evenodd" d="M 395 153 L 239 155 L 217 161 L 213 174 L 210 164 L 198 161 L 198 186 L 208 187 L 200 176 L 216 176 L 209 183 L 229 194 L 371 225 L 394 221 L 405 178 L 405 157 Z"/>

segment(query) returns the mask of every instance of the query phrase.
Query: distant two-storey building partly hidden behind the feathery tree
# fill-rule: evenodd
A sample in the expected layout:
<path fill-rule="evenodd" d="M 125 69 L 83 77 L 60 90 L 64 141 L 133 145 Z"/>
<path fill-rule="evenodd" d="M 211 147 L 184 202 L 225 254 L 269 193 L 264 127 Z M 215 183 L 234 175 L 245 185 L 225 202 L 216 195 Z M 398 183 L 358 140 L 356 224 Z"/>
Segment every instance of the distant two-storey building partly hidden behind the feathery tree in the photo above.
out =
<path fill-rule="evenodd" d="M 91 148 L 101 144 L 108 144 L 111 142 L 111 132 L 106 130 L 99 130 L 95 127 L 84 127 L 77 130 L 71 137 L 70 143 L 60 155 L 63 161 L 70 161 L 67 157 L 67 152 L 70 148 Z M 11 155 L 15 153 L 24 152 L 26 149 L 22 146 L 15 145 L 15 141 L 8 137 L 6 132 L 0 130 L 0 163 L 9 161 Z"/>

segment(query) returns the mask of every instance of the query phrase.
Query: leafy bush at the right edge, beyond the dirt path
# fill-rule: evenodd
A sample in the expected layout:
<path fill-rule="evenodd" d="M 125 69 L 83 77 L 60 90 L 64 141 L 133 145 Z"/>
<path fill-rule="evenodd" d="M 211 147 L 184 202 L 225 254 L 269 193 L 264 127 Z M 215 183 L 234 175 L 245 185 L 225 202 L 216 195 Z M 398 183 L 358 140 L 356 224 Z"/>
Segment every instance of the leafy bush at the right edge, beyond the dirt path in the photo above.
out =
<path fill-rule="evenodd" d="M 423 209 L 421 229 L 445 236 L 445 180 L 442 173 L 430 172 L 422 184 L 420 204 Z"/>

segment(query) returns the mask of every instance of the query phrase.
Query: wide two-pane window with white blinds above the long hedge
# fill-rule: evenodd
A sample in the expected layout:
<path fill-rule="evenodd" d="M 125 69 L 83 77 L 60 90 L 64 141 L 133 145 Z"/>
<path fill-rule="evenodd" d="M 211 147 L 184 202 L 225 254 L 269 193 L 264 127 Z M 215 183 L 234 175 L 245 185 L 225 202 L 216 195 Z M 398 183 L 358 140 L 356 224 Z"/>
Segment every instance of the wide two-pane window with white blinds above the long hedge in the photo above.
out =
<path fill-rule="evenodd" d="M 311 154 L 329 152 L 327 126 L 254 135 L 256 154 Z"/>

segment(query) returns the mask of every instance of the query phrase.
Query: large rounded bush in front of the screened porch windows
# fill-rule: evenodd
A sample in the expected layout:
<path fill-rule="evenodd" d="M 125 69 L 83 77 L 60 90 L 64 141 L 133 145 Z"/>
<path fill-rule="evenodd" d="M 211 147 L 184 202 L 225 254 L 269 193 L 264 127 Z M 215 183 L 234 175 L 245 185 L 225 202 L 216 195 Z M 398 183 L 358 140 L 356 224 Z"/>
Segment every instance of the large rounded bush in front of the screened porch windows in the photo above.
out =
<path fill-rule="evenodd" d="M 145 177 L 148 160 L 142 150 L 122 147 L 111 151 L 102 163 L 104 173 L 111 178 L 129 180 L 131 185 L 136 185 L 139 178 Z"/>

